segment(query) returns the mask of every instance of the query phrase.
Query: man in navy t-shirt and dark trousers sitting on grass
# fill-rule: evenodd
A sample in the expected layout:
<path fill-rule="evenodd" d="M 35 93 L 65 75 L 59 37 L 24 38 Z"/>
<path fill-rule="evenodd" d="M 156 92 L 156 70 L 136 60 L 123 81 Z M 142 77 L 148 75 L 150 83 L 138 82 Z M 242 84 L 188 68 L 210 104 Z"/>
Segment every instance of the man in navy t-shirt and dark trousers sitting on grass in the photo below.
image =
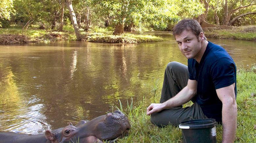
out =
<path fill-rule="evenodd" d="M 188 67 L 167 65 L 160 103 L 147 108 L 159 127 L 190 119 L 214 118 L 223 125 L 222 142 L 234 142 L 237 127 L 236 65 L 220 46 L 208 42 L 199 23 L 181 20 L 173 29 Z M 182 105 L 192 101 L 191 107 Z"/>

